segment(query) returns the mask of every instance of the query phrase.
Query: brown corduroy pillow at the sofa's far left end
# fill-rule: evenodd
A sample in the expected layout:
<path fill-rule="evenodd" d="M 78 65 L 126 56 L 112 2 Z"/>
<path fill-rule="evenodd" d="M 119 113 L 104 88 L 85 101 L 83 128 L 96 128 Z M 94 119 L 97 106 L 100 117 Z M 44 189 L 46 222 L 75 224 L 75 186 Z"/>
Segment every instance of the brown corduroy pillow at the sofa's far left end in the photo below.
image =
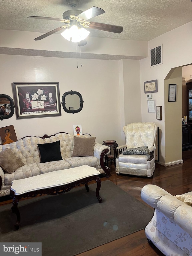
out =
<path fill-rule="evenodd" d="M 7 173 L 13 173 L 25 165 L 10 149 L 0 152 L 0 166 Z"/>

